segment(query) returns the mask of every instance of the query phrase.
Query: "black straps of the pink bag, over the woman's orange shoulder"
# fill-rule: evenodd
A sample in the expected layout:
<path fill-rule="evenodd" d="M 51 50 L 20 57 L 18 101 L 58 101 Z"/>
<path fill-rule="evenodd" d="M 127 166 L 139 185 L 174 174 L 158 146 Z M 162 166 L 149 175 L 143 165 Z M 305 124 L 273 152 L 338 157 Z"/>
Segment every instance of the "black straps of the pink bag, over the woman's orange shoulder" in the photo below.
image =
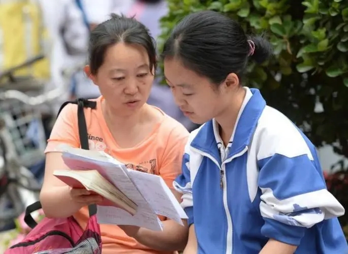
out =
<path fill-rule="evenodd" d="M 91 108 L 96 109 L 97 108 L 97 102 L 95 101 L 88 101 L 86 99 L 77 99 L 76 101 L 68 101 L 61 105 L 60 109 L 58 110 L 57 117 L 61 110 L 67 106 L 68 104 L 77 104 L 77 123 L 79 128 L 79 138 L 80 138 L 80 145 L 82 149 L 88 150 L 88 132 L 87 132 L 87 125 L 86 125 L 86 118 L 84 115 L 84 108 Z M 31 213 L 37 210 L 40 210 L 42 208 L 40 201 L 37 201 L 31 205 L 29 205 L 25 209 L 25 215 L 24 215 L 24 222 L 26 225 L 28 225 L 31 229 L 34 229 L 38 223 L 35 221 L 33 216 L 31 216 Z M 88 206 L 88 212 L 89 217 L 93 216 L 97 213 L 97 205 L 92 204 Z"/>

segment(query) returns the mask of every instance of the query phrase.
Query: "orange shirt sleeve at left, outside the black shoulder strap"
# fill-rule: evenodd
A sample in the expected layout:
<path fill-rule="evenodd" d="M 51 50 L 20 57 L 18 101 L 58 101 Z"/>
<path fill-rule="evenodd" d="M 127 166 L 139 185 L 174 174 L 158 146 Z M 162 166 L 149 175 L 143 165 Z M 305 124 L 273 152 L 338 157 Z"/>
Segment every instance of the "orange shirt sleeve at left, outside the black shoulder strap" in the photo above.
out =
<path fill-rule="evenodd" d="M 45 153 L 60 152 L 61 145 L 80 147 L 78 125 L 77 125 L 77 105 L 68 104 L 57 117 L 50 138 L 48 139 Z"/>

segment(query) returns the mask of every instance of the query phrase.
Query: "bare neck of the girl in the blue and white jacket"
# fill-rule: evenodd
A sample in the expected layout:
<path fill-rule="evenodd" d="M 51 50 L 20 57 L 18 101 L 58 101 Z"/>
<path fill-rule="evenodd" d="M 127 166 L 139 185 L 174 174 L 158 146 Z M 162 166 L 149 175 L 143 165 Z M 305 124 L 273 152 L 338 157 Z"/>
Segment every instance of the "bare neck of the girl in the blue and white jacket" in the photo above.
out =
<path fill-rule="evenodd" d="M 230 105 L 228 105 L 225 110 L 222 111 L 222 113 L 215 117 L 215 120 L 219 124 L 220 137 L 225 146 L 228 144 L 233 134 L 237 117 L 245 98 L 245 93 L 246 91 L 243 87 L 238 88 L 234 98 L 230 100 Z"/>

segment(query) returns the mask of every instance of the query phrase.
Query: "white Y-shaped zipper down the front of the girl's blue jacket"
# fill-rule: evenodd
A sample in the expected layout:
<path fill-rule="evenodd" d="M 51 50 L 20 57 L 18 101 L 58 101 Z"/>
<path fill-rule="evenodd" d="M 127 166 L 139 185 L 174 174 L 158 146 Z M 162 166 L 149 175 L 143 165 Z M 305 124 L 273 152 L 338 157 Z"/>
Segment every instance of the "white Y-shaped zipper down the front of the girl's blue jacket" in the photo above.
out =
<path fill-rule="evenodd" d="M 227 202 L 227 183 L 226 183 L 226 163 L 231 162 L 234 158 L 237 158 L 239 156 L 242 156 L 247 150 L 248 147 L 245 146 L 243 150 L 240 152 L 234 154 L 230 158 L 228 158 L 226 161 L 222 163 L 222 166 L 218 164 L 218 162 L 211 156 L 209 153 L 202 152 L 201 150 L 191 147 L 191 149 L 195 150 L 199 154 L 202 154 L 203 156 L 206 156 L 210 158 L 212 162 L 216 164 L 218 169 L 220 170 L 220 187 L 223 190 L 223 204 L 224 204 L 224 210 L 227 218 L 227 236 L 226 236 L 226 254 L 231 254 L 233 251 L 233 223 L 232 223 L 232 216 L 230 213 L 230 209 L 228 207 L 228 202 Z"/>

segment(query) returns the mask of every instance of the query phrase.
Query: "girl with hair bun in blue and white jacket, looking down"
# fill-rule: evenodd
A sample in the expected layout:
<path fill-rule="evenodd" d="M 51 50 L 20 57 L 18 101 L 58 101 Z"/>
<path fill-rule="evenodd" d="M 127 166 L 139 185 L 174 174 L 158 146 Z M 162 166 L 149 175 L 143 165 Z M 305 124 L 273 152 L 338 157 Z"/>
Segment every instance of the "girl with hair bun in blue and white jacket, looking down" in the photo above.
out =
<path fill-rule="evenodd" d="M 209 36 L 208 36 L 209 35 Z M 271 54 L 222 14 L 198 12 L 163 50 L 176 103 L 204 123 L 185 146 L 175 181 L 189 217 L 185 254 L 347 253 L 315 147 L 260 91 L 242 86 L 249 60 Z"/>

